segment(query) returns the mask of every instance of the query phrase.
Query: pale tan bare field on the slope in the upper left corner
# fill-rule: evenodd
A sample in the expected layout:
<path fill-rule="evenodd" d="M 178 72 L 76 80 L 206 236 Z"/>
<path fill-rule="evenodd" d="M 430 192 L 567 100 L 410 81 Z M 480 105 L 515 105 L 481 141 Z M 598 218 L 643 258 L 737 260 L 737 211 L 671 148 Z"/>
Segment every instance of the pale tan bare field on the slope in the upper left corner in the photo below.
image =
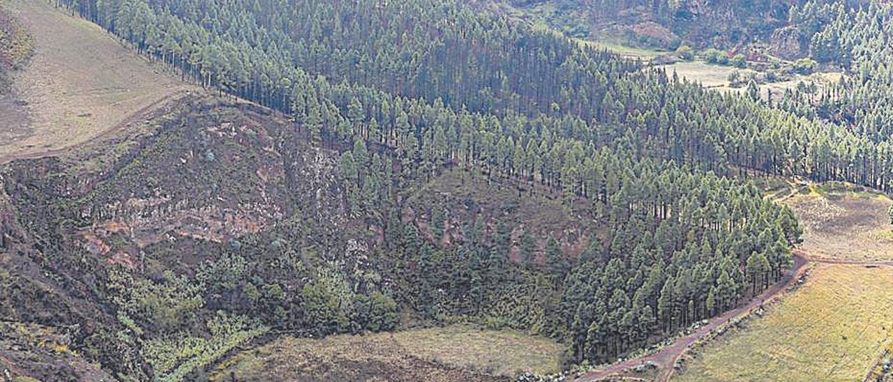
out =
<path fill-rule="evenodd" d="M 0 97 L 0 162 L 78 145 L 190 88 L 95 24 L 45 0 L 6 0 L 35 55 Z"/>

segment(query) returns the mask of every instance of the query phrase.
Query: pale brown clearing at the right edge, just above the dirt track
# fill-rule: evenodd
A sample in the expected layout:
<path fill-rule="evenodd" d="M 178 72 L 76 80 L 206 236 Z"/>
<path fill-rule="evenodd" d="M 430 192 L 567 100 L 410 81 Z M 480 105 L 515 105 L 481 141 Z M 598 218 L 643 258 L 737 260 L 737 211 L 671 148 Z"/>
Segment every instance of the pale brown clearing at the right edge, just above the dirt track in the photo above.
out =
<path fill-rule="evenodd" d="M 829 182 L 803 187 L 784 202 L 804 230 L 801 248 L 815 259 L 893 260 L 890 199 L 862 187 Z"/>

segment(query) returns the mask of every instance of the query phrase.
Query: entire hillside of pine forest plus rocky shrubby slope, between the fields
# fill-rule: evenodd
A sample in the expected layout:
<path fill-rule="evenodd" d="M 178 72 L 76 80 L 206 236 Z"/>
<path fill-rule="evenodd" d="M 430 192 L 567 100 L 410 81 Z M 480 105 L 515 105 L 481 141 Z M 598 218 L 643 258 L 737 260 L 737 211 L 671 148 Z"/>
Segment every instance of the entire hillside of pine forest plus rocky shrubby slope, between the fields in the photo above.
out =
<path fill-rule="evenodd" d="M 736 171 L 889 173 L 805 158 L 846 129 L 458 3 L 60 3 L 220 92 L 0 169 L 2 313 L 78 325 L 116 378 L 455 322 L 611 361 L 789 268 L 797 221 Z"/>

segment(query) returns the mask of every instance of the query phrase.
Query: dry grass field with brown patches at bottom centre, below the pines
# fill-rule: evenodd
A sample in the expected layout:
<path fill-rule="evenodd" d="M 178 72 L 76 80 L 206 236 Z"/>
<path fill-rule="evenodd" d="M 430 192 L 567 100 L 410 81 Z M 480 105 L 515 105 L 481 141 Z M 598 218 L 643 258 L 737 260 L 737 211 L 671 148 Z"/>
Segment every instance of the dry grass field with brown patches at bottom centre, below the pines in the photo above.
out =
<path fill-rule="evenodd" d="M 555 372 L 563 347 L 513 331 L 469 326 L 323 339 L 282 336 L 223 361 L 213 380 L 501 380 Z"/>

